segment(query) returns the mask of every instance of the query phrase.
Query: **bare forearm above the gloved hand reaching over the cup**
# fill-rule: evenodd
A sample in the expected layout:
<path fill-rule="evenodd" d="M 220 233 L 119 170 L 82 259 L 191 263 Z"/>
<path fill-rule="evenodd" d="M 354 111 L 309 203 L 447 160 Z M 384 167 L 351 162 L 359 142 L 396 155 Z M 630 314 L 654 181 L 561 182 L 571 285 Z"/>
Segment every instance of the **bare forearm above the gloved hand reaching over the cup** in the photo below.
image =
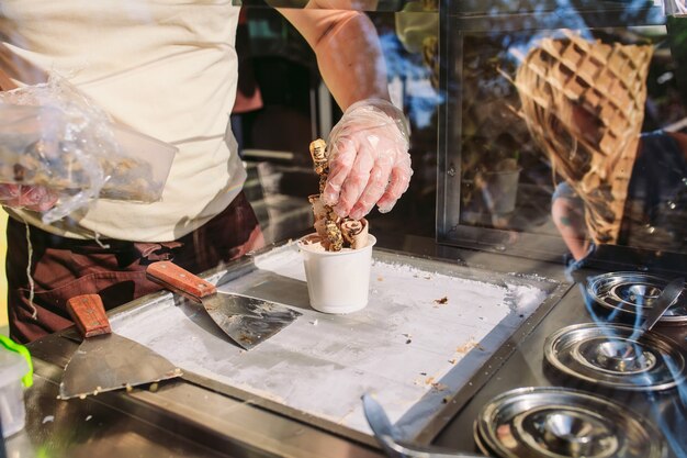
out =
<path fill-rule="evenodd" d="M 364 13 L 314 8 L 282 13 L 315 51 L 322 77 L 342 110 L 363 99 L 388 100 L 379 37 Z"/>

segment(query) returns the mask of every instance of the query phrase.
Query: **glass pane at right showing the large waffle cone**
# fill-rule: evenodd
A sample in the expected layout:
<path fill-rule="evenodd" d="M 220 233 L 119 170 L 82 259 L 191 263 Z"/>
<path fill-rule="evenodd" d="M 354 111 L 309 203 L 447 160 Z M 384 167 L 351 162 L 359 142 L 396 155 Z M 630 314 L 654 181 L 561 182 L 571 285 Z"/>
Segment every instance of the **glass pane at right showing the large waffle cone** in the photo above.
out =
<path fill-rule="evenodd" d="M 655 20 L 624 7 L 619 18 Z M 584 25 L 582 11 L 564 22 Z M 532 14 L 539 26 L 542 15 Z M 459 26 L 460 51 L 449 52 L 459 226 L 562 237 L 575 259 L 599 245 L 687 253 L 687 19 L 538 31 L 517 21 L 514 31 Z"/>

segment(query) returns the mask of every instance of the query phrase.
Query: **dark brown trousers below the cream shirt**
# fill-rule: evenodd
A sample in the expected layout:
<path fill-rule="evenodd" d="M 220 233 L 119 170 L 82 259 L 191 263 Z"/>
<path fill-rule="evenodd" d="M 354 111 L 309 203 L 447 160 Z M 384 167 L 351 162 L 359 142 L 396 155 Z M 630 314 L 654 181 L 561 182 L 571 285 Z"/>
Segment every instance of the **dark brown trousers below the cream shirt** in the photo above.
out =
<path fill-rule="evenodd" d="M 243 192 L 213 220 L 174 242 L 103 239 L 103 248 L 94 241 L 59 237 L 33 226 L 29 230 L 33 300 L 26 272 L 26 224 L 8 221 L 10 335 L 21 343 L 71 325 L 66 303 L 75 295 L 98 293 L 105 309 L 112 309 L 159 291 L 160 286 L 146 279 L 145 269 L 150 262 L 173 260 L 199 273 L 264 244 L 256 214 Z"/>

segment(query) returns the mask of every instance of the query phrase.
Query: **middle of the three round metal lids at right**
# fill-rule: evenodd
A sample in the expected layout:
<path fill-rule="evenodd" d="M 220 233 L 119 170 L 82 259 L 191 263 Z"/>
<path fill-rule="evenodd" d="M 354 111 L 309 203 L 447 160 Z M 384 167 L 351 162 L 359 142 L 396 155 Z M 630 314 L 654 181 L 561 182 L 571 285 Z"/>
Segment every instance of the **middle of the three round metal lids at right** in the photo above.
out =
<path fill-rule="evenodd" d="M 559 371 L 618 390 L 667 390 L 685 380 L 677 343 L 647 332 L 639 340 L 626 325 L 575 324 L 547 338 L 544 357 Z"/>

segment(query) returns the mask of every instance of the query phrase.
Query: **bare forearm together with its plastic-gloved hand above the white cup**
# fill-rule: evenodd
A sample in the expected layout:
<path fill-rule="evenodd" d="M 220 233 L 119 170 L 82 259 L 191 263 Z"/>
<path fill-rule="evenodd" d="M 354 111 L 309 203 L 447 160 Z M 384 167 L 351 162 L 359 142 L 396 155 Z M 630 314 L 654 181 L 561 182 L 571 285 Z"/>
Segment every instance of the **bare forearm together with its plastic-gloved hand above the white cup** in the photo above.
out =
<path fill-rule="evenodd" d="M 360 220 L 374 205 L 391 211 L 413 169 L 407 124 L 388 98 L 376 30 L 353 1 L 311 0 L 313 8 L 282 13 L 315 51 L 319 71 L 345 110 L 329 133 L 322 201 L 339 217 Z"/>

